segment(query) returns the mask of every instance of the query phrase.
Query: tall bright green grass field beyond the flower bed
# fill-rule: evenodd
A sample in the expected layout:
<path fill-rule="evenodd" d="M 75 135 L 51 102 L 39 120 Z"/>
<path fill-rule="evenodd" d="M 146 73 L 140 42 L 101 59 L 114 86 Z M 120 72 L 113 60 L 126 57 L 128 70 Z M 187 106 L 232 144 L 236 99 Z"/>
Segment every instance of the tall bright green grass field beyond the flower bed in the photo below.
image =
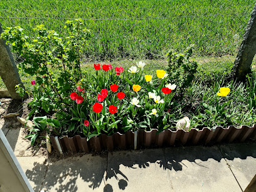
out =
<path fill-rule="evenodd" d="M 63 35 L 65 20 L 85 19 L 93 31 L 87 60 L 158 59 L 195 44 L 196 56 L 233 55 L 255 1 L 1 1 L 3 28 L 44 24 Z M 22 59 L 22 58 L 21 58 Z"/>

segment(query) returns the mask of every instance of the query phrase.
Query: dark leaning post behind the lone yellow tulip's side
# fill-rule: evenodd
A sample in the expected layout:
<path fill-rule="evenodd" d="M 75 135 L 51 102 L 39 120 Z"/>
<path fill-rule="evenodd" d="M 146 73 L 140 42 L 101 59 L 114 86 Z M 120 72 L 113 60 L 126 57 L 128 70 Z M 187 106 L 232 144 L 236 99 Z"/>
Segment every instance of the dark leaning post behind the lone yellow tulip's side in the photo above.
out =
<path fill-rule="evenodd" d="M 256 54 L 256 4 L 253 7 L 247 29 L 243 35 L 237 58 L 233 66 L 233 78 L 243 81 L 248 73 L 251 73 L 251 65 Z"/>

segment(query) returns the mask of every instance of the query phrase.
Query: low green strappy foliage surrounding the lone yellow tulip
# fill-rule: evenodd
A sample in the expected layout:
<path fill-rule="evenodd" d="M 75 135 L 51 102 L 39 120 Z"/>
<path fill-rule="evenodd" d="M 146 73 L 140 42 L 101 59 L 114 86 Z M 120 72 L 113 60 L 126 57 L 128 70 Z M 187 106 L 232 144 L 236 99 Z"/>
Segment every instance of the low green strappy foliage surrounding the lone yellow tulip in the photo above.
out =
<path fill-rule="evenodd" d="M 252 125 L 256 120 L 254 82 L 251 84 L 254 78 L 255 74 L 248 77 L 246 84 L 227 82 L 219 77 L 212 78 L 210 84 L 202 80 L 193 82 L 184 98 L 185 114 L 198 128 Z M 230 93 L 226 97 L 216 95 L 220 87 L 229 87 Z"/>

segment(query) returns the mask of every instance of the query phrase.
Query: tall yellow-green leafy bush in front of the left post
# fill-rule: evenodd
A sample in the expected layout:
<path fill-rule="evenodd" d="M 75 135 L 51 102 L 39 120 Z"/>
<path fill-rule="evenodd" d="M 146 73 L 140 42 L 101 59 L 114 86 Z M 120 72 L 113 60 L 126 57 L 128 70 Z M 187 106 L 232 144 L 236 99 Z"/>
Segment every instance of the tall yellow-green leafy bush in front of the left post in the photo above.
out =
<path fill-rule="evenodd" d="M 66 22 L 65 38 L 56 31 L 47 30 L 43 24 L 33 30 L 35 38 L 24 35 L 19 26 L 5 29 L 1 38 L 24 58 L 19 63 L 22 73 L 35 77 L 36 85 L 32 90 L 26 90 L 33 93 L 31 107 L 47 113 L 58 112 L 70 106 L 65 98 L 82 78 L 82 50 L 88 45 L 90 31 L 81 19 Z M 21 95 L 24 94 L 20 87 L 17 89 Z"/>

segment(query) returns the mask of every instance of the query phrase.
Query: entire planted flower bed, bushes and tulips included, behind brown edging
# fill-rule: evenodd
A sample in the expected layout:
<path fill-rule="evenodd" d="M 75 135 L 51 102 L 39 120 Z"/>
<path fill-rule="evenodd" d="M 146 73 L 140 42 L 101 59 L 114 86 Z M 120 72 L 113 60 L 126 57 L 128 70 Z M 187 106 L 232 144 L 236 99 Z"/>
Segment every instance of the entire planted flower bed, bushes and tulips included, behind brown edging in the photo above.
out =
<path fill-rule="evenodd" d="M 230 68 L 205 73 L 191 59 L 193 47 L 183 53 L 169 51 L 166 68 L 148 68 L 139 61 L 132 67 L 93 64 L 83 68 L 83 48 L 90 30 L 81 19 L 65 23 L 65 38 L 43 25 L 35 38 L 19 26 L 1 35 L 24 60 L 22 73 L 35 77 L 31 87 L 17 87 L 33 100 L 28 119 L 31 144 L 40 132 L 56 136 L 80 134 L 90 139 L 139 129 L 175 129 L 188 116 L 189 129 L 221 125 L 252 125 L 256 120 L 255 73 L 245 82 L 230 80 Z M 225 72 L 225 73 L 224 73 Z"/>

